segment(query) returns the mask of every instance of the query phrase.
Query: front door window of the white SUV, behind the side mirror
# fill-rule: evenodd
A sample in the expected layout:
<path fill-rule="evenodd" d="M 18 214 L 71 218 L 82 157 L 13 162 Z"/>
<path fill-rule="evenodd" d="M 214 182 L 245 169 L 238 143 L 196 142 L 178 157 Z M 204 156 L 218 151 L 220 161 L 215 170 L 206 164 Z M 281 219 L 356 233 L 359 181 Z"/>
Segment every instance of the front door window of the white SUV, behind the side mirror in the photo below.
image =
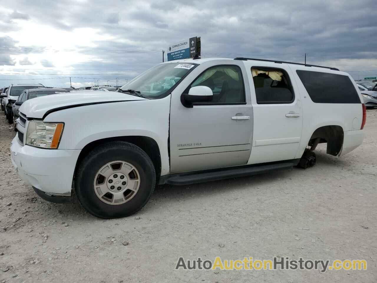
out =
<path fill-rule="evenodd" d="M 213 92 L 210 102 L 201 104 L 245 104 L 245 88 L 242 71 L 238 66 L 215 66 L 205 70 L 191 84 L 208 86 Z"/>

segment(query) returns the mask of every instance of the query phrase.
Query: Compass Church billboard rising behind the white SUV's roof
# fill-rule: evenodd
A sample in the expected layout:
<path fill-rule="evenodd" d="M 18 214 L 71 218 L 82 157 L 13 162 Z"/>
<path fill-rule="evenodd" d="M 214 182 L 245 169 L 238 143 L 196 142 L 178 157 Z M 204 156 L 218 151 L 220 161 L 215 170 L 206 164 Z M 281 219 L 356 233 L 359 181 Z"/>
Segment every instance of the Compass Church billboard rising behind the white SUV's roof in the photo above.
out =
<path fill-rule="evenodd" d="M 189 40 L 176 42 L 169 46 L 167 60 L 178 60 L 200 56 L 200 37 L 191 37 Z"/>

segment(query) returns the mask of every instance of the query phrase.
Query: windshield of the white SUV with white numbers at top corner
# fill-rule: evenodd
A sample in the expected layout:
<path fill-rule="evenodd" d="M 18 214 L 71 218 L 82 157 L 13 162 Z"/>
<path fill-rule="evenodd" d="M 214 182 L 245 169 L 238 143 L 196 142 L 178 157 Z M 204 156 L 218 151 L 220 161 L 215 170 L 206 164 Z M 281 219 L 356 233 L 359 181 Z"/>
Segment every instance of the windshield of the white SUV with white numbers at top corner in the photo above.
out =
<path fill-rule="evenodd" d="M 165 63 L 154 66 L 121 89 L 132 89 L 146 98 L 162 98 L 197 64 Z"/>

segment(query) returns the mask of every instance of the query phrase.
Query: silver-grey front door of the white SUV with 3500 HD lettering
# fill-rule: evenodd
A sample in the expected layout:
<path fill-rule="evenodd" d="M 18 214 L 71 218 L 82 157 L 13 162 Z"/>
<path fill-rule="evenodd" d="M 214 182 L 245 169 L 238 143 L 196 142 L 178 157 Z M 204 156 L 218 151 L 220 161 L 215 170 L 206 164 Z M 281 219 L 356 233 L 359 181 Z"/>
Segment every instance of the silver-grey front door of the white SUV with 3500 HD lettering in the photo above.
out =
<path fill-rule="evenodd" d="M 202 63 L 172 92 L 172 173 L 245 165 L 250 157 L 253 109 L 244 66 L 224 63 Z M 185 107 L 181 95 L 194 86 L 211 88 L 212 101 Z"/>

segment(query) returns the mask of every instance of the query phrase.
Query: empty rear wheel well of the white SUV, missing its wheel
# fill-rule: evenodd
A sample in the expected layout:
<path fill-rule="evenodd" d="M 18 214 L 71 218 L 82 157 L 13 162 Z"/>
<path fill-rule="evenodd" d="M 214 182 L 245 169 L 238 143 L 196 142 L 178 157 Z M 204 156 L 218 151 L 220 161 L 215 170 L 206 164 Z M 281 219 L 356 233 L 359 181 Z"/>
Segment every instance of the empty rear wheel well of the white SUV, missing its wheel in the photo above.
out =
<path fill-rule="evenodd" d="M 327 143 L 326 152 L 328 154 L 336 156 L 342 149 L 343 138 L 344 132 L 341 126 L 323 126 L 314 131 L 313 135 L 311 135 L 308 145 L 312 147 L 314 146 L 314 148 L 311 149 L 314 150 L 316 144 Z"/>

